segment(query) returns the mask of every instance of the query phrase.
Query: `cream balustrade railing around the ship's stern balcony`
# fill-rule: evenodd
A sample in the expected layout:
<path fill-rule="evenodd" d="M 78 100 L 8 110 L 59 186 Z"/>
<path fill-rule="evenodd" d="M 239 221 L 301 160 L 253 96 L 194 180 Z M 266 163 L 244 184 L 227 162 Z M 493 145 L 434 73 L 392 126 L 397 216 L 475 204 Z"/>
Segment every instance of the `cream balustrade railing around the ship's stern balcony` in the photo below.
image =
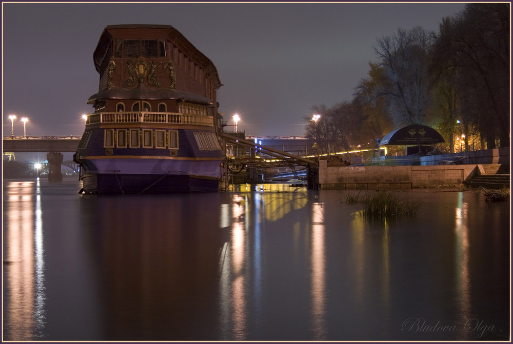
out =
<path fill-rule="evenodd" d="M 211 116 L 175 112 L 100 112 L 87 115 L 86 124 L 93 123 L 167 123 L 213 126 Z"/>

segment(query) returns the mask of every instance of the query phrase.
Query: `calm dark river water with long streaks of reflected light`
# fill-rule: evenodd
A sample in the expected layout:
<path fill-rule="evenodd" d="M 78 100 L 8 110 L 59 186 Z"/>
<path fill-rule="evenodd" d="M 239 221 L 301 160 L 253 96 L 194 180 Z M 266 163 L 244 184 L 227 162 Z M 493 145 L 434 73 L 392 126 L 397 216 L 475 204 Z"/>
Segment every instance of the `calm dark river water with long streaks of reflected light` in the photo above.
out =
<path fill-rule="evenodd" d="M 80 188 L 4 180 L 4 340 L 509 339 L 510 204 L 478 192 L 384 221 L 348 191 Z"/>

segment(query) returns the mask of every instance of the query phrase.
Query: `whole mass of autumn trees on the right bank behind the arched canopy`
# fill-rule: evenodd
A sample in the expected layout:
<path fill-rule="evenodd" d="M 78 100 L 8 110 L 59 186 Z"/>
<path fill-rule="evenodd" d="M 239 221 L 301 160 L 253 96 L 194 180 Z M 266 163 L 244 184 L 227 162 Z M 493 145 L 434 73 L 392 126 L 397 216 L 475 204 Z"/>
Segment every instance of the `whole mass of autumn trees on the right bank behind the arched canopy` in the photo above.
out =
<path fill-rule="evenodd" d="M 480 149 L 509 147 L 510 5 L 469 3 L 441 19 L 438 32 L 398 29 L 377 38 L 378 57 L 353 99 L 317 105 L 307 135 L 323 152 L 374 146 L 409 124 L 436 128 L 454 151 L 455 138 Z M 470 147 L 471 148 L 471 147 Z"/>

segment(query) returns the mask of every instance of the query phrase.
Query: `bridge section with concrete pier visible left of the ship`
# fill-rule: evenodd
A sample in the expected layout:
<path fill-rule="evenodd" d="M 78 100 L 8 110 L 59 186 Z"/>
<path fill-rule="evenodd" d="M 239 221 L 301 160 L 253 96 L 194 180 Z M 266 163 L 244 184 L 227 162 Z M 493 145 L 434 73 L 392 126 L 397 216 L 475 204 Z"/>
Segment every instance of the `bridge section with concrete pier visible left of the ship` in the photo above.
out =
<path fill-rule="evenodd" d="M 81 136 L 4 136 L 2 152 L 47 152 L 48 180 L 62 180 L 63 152 L 76 152 Z"/>

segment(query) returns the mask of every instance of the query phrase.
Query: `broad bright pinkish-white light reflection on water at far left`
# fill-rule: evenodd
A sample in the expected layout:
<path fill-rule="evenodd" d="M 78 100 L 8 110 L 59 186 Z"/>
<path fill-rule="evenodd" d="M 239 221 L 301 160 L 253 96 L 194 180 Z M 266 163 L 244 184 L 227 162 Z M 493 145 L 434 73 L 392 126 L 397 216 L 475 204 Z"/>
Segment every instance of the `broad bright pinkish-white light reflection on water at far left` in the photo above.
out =
<path fill-rule="evenodd" d="M 9 184 L 5 228 L 4 276 L 8 276 L 4 313 L 12 340 L 36 340 L 45 322 L 44 244 L 40 180 Z M 4 244 L 5 245 L 5 244 Z"/>

